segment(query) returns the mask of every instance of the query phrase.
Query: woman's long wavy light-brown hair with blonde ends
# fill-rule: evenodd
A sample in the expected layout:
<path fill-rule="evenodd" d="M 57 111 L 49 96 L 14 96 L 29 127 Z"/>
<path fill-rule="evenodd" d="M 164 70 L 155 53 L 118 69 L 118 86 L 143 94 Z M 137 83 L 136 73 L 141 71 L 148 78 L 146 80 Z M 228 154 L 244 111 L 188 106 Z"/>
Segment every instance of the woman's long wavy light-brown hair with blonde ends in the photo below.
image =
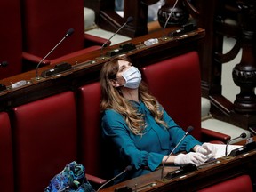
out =
<path fill-rule="evenodd" d="M 114 87 L 111 81 L 116 79 L 118 72 L 119 60 L 127 60 L 128 58 L 116 58 L 110 60 L 104 64 L 100 71 L 100 85 L 102 100 L 100 108 L 102 111 L 106 109 L 114 109 L 117 113 L 124 116 L 126 124 L 130 130 L 136 135 L 142 135 L 146 127 L 144 117 L 138 113 L 136 108 L 132 107 L 129 100 L 126 100 L 119 87 Z M 167 127 L 167 124 L 163 121 L 163 108 L 156 101 L 156 98 L 148 92 L 146 84 L 140 83 L 139 86 L 139 99 L 144 102 L 148 110 L 154 116 L 158 124 L 162 124 Z"/>

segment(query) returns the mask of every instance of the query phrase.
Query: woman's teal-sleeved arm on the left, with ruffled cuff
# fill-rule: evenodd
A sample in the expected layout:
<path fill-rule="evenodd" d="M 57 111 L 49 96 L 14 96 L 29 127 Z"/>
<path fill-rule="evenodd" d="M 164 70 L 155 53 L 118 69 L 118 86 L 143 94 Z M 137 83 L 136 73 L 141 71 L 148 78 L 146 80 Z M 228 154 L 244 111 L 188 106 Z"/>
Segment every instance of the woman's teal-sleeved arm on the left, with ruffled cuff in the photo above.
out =
<path fill-rule="evenodd" d="M 103 136 L 111 140 L 118 148 L 119 156 L 124 161 L 129 161 L 133 167 L 140 169 L 147 166 L 151 171 L 163 161 L 163 154 L 140 150 L 136 147 L 134 141 L 140 143 L 141 136 L 134 136 L 130 132 L 123 116 L 114 110 L 107 110 L 102 118 Z M 152 142 L 148 140 L 148 142 Z M 150 144 L 152 145 L 152 144 Z"/>

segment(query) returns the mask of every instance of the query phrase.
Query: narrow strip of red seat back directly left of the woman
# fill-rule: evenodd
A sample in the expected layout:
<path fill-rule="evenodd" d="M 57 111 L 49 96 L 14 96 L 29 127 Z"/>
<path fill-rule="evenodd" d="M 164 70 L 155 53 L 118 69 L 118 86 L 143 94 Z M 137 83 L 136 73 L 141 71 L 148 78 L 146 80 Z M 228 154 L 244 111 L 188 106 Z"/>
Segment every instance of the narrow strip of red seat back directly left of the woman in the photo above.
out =
<path fill-rule="evenodd" d="M 83 140 L 82 163 L 86 167 L 86 172 L 107 179 L 109 172 L 105 172 L 108 165 L 104 158 L 100 129 L 100 83 L 95 82 L 81 86 L 78 97 L 80 139 Z"/>

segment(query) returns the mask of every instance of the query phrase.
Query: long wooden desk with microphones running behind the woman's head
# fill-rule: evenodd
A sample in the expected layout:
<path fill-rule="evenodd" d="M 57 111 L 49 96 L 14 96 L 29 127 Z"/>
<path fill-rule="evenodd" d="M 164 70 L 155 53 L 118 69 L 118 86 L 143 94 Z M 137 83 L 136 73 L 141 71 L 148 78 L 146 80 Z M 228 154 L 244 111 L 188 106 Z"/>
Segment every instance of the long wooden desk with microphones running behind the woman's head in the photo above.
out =
<path fill-rule="evenodd" d="M 166 28 L 164 34 L 168 34 L 176 29 Z M 204 29 L 198 28 L 193 32 L 187 33 L 185 36 L 164 39 L 163 31 L 157 31 L 146 36 L 133 38 L 131 41 L 122 44 L 132 43 L 136 46 L 136 49 L 125 52 L 125 54 L 129 55 L 133 64 L 140 68 L 159 60 L 166 60 L 180 53 L 196 50 L 198 41 L 203 39 L 204 35 Z M 150 38 L 157 38 L 159 43 L 144 46 L 143 42 Z M 122 44 L 106 47 L 103 49 L 102 54 L 100 50 L 97 50 L 88 54 L 81 54 L 70 60 L 63 60 L 63 62 L 71 64 L 72 69 L 56 76 L 42 77 L 40 80 L 36 80 L 36 70 L 32 70 L 18 76 L 0 80 L 0 84 L 7 86 L 7 90 L 0 92 L 0 111 L 8 111 L 15 106 L 43 99 L 59 92 L 67 90 L 74 91 L 81 84 L 99 80 L 102 64 L 116 57 L 105 57 L 106 53 L 118 49 Z M 102 60 L 101 55 L 105 57 L 104 60 Z M 44 70 L 53 68 L 53 66 L 39 68 L 38 74 L 41 74 Z M 20 80 L 25 80 L 29 84 L 12 89 L 10 84 Z"/>

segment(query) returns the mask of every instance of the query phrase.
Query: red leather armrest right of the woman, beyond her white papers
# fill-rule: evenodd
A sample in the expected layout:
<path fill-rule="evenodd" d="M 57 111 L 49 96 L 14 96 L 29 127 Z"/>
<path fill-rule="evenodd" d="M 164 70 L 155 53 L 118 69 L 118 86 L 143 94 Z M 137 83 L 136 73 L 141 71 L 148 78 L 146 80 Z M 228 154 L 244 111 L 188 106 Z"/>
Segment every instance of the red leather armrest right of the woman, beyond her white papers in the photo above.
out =
<path fill-rule="evenodd" d="M 213 143 L 227 143 L 228 140 L 230 140 L 231 137 L 230 135 L 223 134 L 221 132 L 214 132 L 212 130 L 208 130 L 205 128 L 202 128 L 202 140 L 203 142 L 205 141 L 210 141 Z"/>

